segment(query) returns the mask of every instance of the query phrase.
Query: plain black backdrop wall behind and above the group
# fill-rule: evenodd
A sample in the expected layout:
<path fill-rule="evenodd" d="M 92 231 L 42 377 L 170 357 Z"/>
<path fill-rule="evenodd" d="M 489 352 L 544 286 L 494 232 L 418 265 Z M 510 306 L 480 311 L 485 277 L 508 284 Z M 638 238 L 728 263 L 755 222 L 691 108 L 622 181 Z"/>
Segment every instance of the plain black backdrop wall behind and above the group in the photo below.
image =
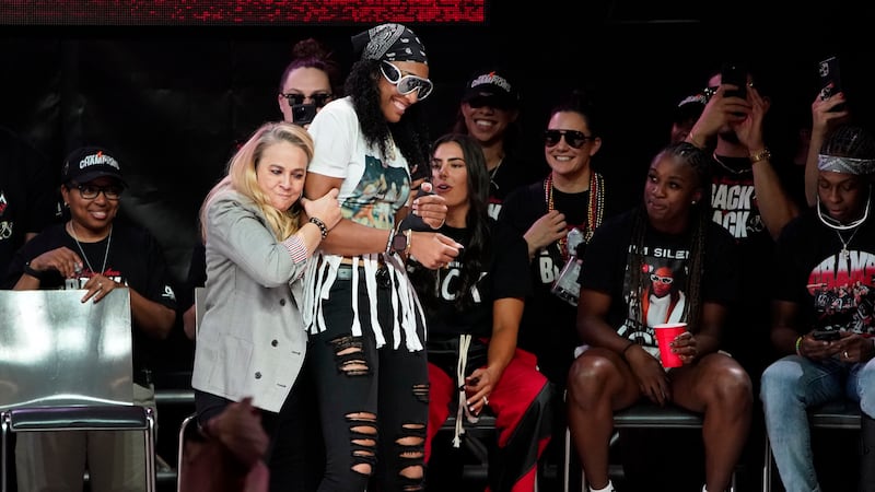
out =
<path fill-rule="evenodd" d="M 871 117 L 874 19 L 850 1 L 817 11 L 752 0 L 510 3 L 492 2 L 487 25 L 408 24 L 430 56 L 436 92 L 423 104 L 435 137 L 450 128 L 471 71 L 493 61 L 522 89 L 533 159 L 541 159 L 538 136 L 561 92 L 594 93 L 608 110 L 597 165 L 619 192 L 637 189 L 667 140 L 674 105 L 724 57 L 751 60 L 768 75 L 775 147 L 808 113 L 827 55 L 841 57 L 852 107 Z M 349 37 L 365 27 L 3 26 L 0 125 L 58 168 L 81 144 L 116 150 L 131 185 L 122 213 L 159 237 L 183 280 L 200 200 L 235 142 L 280 117 L 277 84 L 291 46 L 318 37 L 348 68 Z"/>

